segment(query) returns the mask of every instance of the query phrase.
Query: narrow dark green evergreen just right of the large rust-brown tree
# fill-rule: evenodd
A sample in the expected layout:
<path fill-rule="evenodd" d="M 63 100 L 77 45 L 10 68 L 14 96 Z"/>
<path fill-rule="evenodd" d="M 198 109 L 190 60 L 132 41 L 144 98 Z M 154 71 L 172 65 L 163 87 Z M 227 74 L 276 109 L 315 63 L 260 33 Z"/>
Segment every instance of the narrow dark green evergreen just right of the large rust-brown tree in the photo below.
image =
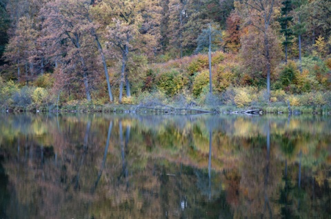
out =
<path fill-rule="evenodd" d="M 292 2 L 285 0 L 281 4 L 283 5 L 281 8 L 282 17 L 279 18 L 279 23 L 281 24 L 281 33 L 285 36 L 283 45 L 285 46 L 285 63 L 288 63 L 288 45 L 292 44 L 293 39 L 293 31 L 289 28 L 293 20 L 293 17 L 289 16 L 289 13 L 292 11 Z"/>

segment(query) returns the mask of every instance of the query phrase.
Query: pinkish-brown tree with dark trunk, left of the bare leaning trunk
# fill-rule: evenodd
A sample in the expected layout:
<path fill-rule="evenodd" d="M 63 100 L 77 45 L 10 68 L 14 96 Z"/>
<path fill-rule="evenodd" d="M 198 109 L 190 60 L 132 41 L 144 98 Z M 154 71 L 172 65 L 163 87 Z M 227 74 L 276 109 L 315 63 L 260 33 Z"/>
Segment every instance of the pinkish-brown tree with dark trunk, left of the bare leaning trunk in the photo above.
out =
<path fill-rule="evenodd" d="M 92 72 L 86 63 L 86 59 L 90 57 L 89 54 L 92 54 L 88 32 L 90 23 L 82 20 L 81 14 L 77 13 L 76 0 L 49 2 L 42 13 L 45 19 L 43 28 L 46 36 L 52 39 L 52 44 L 49 46 L 57 53 L 54 57 L 60 59 L 61 67 L 66 69 L 67 74 L 73 73 L 83 77 L 86 98 L 91 101 L 88 76 L 89 72 L 91 75 Z"/>

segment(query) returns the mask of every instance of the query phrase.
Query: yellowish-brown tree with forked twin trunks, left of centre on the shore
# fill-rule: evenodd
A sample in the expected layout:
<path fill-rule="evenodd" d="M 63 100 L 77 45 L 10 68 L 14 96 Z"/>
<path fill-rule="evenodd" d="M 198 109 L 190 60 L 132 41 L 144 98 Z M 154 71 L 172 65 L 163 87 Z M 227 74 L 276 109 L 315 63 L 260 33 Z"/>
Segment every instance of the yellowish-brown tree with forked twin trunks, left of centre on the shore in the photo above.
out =
<path fill-rule="evenodd" d="M 112 23 L 108 26 L 108 52 L 115 59 L 121 59 L 121 76 L 119 85 L 119 103 L 123 96 L 123 83 L 126 82 L 126 94 L 130 94 L 127 63 L 130 53 L 141 52 L 154 54 L 159 34 L 159 14 L 161 8 L 157 2 L 111 1 L 110 14 Z"/>

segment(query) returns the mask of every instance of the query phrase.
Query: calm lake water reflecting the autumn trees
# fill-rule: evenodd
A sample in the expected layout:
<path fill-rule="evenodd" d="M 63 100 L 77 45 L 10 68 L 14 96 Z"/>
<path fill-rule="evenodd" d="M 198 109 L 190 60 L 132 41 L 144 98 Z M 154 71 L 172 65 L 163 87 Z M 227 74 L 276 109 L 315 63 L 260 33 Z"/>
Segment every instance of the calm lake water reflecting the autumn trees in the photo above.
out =
<path fill-rule="evenodd" d="M 331 118 L 0 114 L 0 218 L 330 218 Z"/>

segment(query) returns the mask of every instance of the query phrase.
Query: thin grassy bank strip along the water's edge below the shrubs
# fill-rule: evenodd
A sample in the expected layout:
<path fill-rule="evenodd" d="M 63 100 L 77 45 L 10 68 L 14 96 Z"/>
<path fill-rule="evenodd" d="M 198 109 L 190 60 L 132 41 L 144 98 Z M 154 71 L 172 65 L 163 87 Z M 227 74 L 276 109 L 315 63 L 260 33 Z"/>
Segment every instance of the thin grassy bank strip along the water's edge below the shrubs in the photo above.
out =
<path fill-rule="evenodd" d="M 289 114 L 288 106 L 279 103 L 269 103 L 268 105 L 252 105 L 250 107 L 237 107 L 234 105 L 194 105 L 189 107 L 179 107 L 176 105 L 131 105 L 131 104 L 105 104 L 95 105 L 84 103 L 81 105 L 29 105 L 0 107 L 0 112 L 62 112 L 62 113 L 132 113 L 132 114 L 240 114 L 247 110 L 259 110 L 259 114 Z M 331 114 L 331 107 L 323 106 L 293 106 L 292 114 Z"/>

